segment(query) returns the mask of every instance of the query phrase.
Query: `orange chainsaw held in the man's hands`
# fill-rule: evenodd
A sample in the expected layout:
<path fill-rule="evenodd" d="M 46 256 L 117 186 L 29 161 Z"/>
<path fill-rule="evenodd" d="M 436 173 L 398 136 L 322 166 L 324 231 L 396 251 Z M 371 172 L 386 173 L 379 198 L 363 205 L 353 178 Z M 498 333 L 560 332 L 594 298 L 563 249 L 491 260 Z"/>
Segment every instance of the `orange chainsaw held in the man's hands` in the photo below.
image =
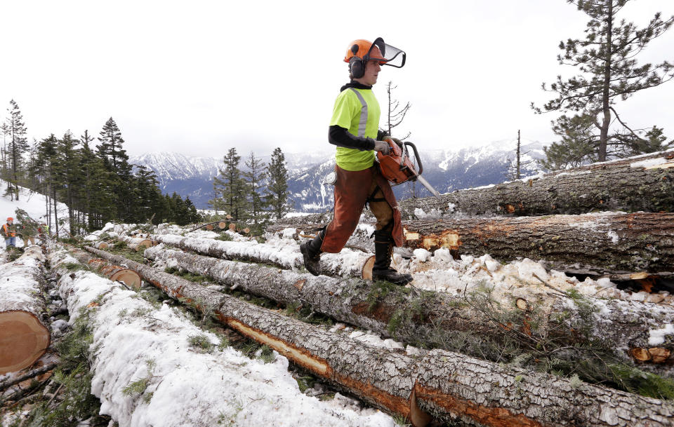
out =
<path fill-rule="evenodd" d="M 426 187 L 433 196 L 440 198 L 437 190 L 421 176 L 423 165 L 421 165 L 421 158 L 419 158 L 419 153 L 416 151 L 416 145 L 411 142 L 397 144 L 390 137 L 385 137 L 383 140 L 388 142 L 391 149 L 388 154 L 382 154 L 381 151 L 377 151 L 377 161 L 379 162 L 381 175 L 388 179 L 392 185 L 399 185 L 407 181 L 421 182 L 423 187 Z M 419 170 L 416 170 L 414 163 L 409 158 L 410 150 L 408 147 L 411 148 L 411 151 L 414 151 L 414 157 L 416 158 L 416 164 L 419 165 Z"/>

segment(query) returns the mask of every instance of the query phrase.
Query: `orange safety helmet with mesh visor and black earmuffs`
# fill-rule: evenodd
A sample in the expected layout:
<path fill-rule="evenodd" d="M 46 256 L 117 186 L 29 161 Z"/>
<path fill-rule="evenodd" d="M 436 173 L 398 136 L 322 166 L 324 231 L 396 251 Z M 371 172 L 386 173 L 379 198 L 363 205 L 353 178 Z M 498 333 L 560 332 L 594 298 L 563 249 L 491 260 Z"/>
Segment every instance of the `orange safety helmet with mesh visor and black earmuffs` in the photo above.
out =
<path fill-rule="evenodd" d="M 395 61 L 401 53 L 402 56 Z M 357 39 L 349 43 L 344 62 L 349 63 L 349 72 L 354 79 L 359 79 L 364 76 L 365 65 L 369 60 L 378 60 L 379 65 L 402 68 L 405 65 L 405 56 L 402 50 L 384 43 L 384 39 L 377 37 L 374 43 L 363 39 Z"/>

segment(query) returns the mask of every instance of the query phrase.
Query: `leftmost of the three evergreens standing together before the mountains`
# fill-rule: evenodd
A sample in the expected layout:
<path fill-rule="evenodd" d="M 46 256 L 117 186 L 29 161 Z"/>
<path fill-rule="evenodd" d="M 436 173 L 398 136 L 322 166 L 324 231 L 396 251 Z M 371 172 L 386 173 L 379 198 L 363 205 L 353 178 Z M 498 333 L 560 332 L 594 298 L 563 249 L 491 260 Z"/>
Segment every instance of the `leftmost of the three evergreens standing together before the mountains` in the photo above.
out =
<path fill-rule="evenodd" d="M 234 222 L 245 220 L 248 185 L 239 169 L 241 156 L 237 155 L 237 149 L 231 148 L 224 157 L 225 167 L 220 168 L 220 174 L 213 178 L 213 189 L 216 197 L 209 201 L 215 210 L 225 210 L 232 215 Z"/>

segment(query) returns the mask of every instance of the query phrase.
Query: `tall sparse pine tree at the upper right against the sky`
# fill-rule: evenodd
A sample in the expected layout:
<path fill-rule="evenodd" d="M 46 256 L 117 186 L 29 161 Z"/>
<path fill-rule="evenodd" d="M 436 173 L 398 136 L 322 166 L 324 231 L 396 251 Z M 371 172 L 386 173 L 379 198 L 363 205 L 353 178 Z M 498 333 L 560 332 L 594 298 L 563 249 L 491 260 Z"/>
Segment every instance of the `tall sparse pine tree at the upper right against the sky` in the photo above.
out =
<path fill-rule="evenodd" d="M 630 156 L 664 148 L 659 128 L 633 129 L 619 116 L 617 100 L 627 100 L 640 90 L 653 88 L 674 77 L 674 65 L 637 66 L 635 57 L 647 44 L 661 36 L 674 23 L 674 17 L 662 20 L 656 13 L 647 27 L 638 29 L 633 23 L 618 21 L 623 6 L 630 0 L 567 0 L 590 16 L 585 39 L 569 39 L 560 43 L 560 65 L 572 65 L 581 74 L 557 81 L 543 90 L 557 97 L 537 113 L 560 111 L 573 113 L 553 121 L 553 131 L 562 137 L 546 149 L 548 165 L 574 165 L 607 158 Z M 613 118 L 620 128 L 612 129 Z M 661 132 L 661 130 L 660 130 Z M 660 141 L 661 143 L 658 143 Z"/>

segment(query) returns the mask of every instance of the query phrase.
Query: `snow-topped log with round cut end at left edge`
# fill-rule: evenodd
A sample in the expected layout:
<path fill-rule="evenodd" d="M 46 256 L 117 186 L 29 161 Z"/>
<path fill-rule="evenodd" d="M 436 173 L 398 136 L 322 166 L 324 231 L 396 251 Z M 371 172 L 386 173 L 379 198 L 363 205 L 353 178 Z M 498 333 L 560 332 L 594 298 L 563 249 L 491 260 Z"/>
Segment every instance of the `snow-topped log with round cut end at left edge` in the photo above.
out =
<path fill-rule="evenodd" d="M 0 374 L 29 367 L 49 346 L 50 332 L 42 320 L 44 260 L 41 248 L 32 245 L 0 266 Z"/>

